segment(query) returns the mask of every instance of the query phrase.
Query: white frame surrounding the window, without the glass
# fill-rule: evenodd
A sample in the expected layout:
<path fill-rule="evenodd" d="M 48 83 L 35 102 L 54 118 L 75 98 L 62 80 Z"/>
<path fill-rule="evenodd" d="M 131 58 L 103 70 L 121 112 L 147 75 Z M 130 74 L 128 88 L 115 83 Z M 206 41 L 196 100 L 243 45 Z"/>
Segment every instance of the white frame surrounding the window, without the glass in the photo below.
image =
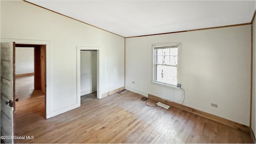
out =
<path fill-rule="evenodd" d="M 156 64 L 154 63 L 155 61 L 154 49 L 156 47 L 166 47 L 166 46 L 178 46 L 178 65 L 176 66 L 177 67 L 177 84 L 181 83 L 181 42 L 152 44 L 152 83 L 177 88 L 177 85 L 166 84 L 163 82 L 156 81 Z"/>

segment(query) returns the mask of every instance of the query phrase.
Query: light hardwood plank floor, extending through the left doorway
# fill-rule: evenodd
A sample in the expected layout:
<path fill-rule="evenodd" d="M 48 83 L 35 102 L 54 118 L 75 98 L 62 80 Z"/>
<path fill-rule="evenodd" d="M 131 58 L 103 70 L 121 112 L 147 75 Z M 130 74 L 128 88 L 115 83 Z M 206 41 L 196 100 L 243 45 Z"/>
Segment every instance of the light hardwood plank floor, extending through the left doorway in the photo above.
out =
<path fill-rule="evenodd" d="M 178 108 L 146 106 L 130 91 L 83 102 L 50 119 L 43 116 L 44 96 L 31 94 L 21 94 L 16 103 L 14 135 L 34 139 L 15 143 L 251 143 L 250 134 Z"/>

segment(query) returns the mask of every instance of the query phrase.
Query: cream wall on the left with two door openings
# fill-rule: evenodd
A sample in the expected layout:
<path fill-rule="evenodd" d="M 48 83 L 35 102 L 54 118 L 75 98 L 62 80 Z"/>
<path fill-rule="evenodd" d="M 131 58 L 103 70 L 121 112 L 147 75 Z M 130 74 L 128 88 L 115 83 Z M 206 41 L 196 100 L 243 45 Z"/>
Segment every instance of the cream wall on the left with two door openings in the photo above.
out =
<path fill-rule="evenodd" d="M 124 38 L 121 36 L 28 2 L 1 0 L 1 41 L 5 38 L 50 43 L 46 74 L 50 79 L 47 88 L 51 88 L 51 92 L 47 96 L 51 101 L 48 103 L 51 116 L 80 105 L 76 80 L 77 46 L 100 46 L 100 94 L 124 86 Z"/>

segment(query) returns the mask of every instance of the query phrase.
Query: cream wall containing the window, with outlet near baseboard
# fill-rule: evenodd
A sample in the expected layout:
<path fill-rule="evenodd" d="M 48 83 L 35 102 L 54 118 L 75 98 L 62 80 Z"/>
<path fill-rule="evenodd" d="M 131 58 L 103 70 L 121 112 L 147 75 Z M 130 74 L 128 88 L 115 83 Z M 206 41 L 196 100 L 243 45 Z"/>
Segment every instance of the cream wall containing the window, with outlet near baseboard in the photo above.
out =
<path fill-rule="evenodd" d="M 180 89 L 151 82 L 151 44 L 165 42 L 181 42 L 184 105 L 250 125 L 250 25 L 126 38 L 126 89 L 181 104 Z"/>

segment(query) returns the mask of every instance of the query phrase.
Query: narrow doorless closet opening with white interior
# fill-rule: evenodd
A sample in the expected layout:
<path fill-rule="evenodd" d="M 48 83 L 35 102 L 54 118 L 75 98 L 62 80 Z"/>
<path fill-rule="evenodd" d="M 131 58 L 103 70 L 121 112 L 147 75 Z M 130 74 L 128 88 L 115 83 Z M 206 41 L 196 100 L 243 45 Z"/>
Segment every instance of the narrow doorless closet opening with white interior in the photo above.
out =
<path fill-rule="evenodd" d="M 80 50 L 80 101 L 97 98 L 97 50 Z"/>

